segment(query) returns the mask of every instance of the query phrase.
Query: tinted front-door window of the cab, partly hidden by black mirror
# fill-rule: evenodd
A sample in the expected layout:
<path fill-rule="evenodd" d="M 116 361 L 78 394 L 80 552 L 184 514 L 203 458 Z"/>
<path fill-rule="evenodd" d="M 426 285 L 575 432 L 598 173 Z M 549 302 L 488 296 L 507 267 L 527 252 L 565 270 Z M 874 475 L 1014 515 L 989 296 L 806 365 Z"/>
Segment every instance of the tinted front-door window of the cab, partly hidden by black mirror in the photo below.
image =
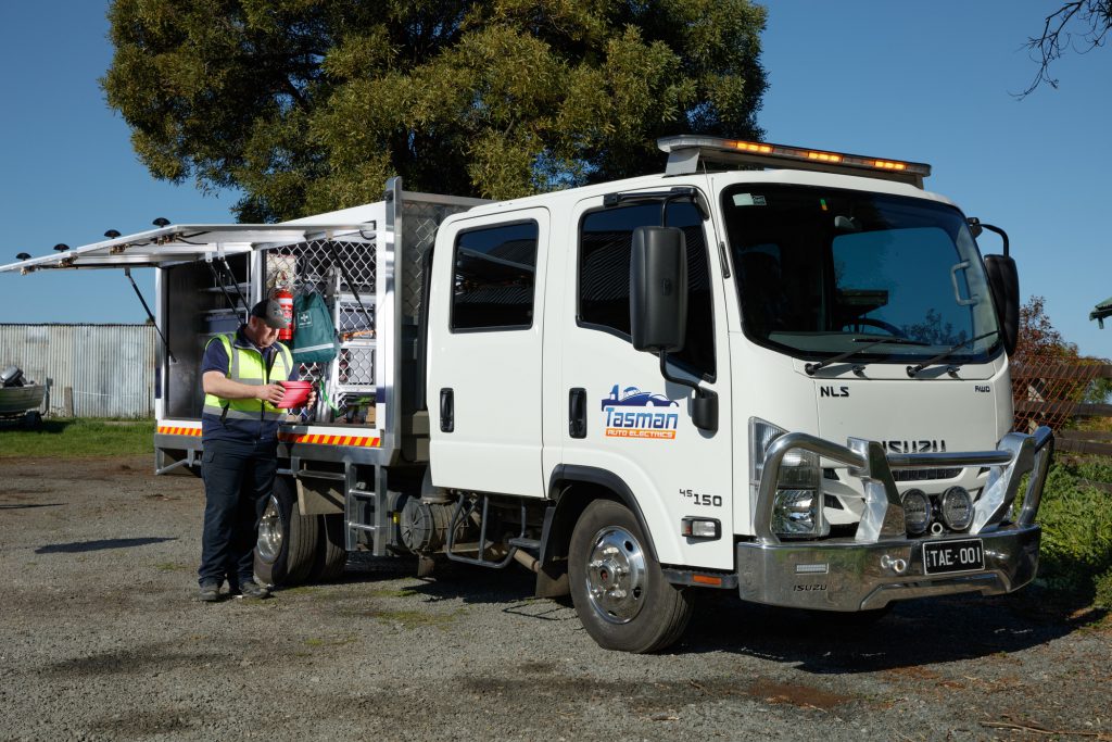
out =
<path fill-rule="evenodd" d="M 579 226 L 578 321 L 629 339 L 629 253 L 633 230 L 661 224 L 659 204 L 634 204 L 587 214 Z M 687 342 L 669 355 L 681 365 L 714 377 L 714 314 L 706 240 L 698 209 L 668 205 L 668 226 L 684 230 L 687 245 Z"/>

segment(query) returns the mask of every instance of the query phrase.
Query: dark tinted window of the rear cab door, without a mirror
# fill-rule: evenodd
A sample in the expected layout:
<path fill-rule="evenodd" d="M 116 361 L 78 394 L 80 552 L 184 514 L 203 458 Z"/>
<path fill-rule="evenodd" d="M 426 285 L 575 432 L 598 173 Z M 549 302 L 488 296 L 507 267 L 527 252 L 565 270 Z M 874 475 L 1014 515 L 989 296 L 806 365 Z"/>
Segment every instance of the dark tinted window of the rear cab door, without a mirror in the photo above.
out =
<path fill-rule="evenodd" d="M 533 326 L 537 222 L 460 233 L 453 251 L 453 330 Z"/>

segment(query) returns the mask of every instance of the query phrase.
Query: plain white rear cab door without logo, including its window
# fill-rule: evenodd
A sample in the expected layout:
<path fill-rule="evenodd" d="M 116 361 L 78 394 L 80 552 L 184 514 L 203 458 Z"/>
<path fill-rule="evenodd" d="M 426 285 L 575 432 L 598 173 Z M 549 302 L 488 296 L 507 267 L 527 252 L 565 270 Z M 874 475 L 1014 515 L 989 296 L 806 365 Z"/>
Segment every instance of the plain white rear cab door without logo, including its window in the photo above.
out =
<path fill-rule="evenodd" d="M 540 497 L 547 209 L 445 224 L 429 296 L 433 483 Z"/>

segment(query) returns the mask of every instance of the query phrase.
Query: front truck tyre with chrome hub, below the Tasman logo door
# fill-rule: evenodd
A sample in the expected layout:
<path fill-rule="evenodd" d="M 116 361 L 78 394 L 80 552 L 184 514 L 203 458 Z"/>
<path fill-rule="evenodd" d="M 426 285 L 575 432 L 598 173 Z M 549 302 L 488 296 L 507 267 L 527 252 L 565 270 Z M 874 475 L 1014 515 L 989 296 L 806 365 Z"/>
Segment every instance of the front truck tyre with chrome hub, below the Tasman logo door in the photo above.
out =
<path fill-rule="evenodd" d="M 684 633 L 691 591 L 664 578 L 637 518 L 624 505 L 596 499 L 572 533 L 568 577 L 579 621 L 599 646 L 655 652 Z"/>

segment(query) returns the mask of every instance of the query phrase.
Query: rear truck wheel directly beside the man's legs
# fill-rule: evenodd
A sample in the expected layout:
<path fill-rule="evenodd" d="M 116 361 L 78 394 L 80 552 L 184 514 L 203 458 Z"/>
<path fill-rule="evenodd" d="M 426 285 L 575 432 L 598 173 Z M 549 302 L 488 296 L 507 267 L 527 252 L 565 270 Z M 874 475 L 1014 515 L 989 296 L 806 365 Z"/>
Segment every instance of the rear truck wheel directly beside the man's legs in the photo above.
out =
<path fill-rule="evenodd" d="M 301 515 L 297 487 L 287 476 L 275 478 L 274 493 L 259 523 L 255 575 L 268 585 L 290 587 L 309 576 L 320 536 L 320 518 Z"/>

